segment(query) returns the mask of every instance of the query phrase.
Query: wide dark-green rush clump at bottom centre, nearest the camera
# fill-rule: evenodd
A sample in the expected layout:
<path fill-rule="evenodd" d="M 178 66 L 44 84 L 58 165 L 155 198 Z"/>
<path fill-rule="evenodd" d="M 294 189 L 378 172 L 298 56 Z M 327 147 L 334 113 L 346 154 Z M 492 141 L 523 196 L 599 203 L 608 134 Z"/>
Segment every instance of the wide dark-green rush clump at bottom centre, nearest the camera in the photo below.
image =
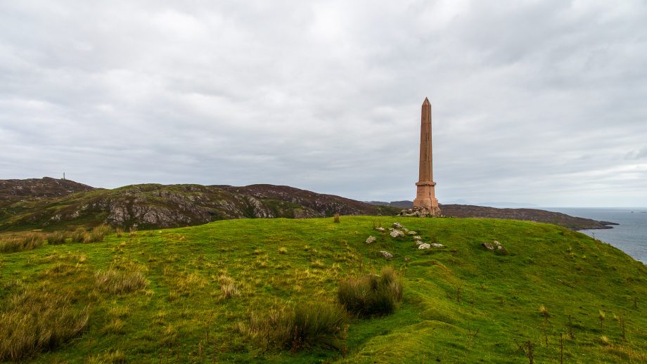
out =
<path fill-rule="evenodd" d="M 344 346 L 348 315 L 338 304 L 314 301 L 302 306 L 252 313 L 250 323 L 238 330 L 266 349 L 335 349 Z"/>

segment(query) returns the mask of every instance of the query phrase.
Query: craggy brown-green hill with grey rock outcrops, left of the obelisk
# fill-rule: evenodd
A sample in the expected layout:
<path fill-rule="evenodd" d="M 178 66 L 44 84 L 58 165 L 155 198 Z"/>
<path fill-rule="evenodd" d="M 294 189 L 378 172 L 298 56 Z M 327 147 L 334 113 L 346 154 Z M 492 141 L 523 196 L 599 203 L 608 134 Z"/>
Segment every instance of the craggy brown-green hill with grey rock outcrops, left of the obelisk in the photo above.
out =
<path fill-rule="evenodd" d="M 15 180 L 12 183 L 20 185 Z M 124 228 L 168 228 L 224 219 L 393 215 L 399 212 L 392 207 L 378 207 L 288 186 L 142 184 L 98 190 L 71 183 L 74 182 L 45 178 L 32 195 L 8 199 L 8 203 L 0 207 L 0 230 L 53 230 L 101 223 Z M 42 191 L 49 191 L 48 195 L 58 193 L 59 197 L 37 198 L 44 195 Z"/>

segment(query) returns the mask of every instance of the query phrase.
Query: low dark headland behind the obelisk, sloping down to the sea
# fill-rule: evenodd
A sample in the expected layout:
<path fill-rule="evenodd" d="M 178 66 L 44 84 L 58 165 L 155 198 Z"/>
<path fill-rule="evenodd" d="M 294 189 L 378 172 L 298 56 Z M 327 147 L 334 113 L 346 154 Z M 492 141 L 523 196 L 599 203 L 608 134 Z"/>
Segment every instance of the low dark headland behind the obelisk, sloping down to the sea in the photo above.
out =
<path fill-rule="evenodd" d="M 403 209 L 410 209 L 414 205 L 412 201 L 371 201 L 369 203 L 378 206 L 402 207 Z M 611 228 L 610 225 L 617 225 L 617 223 L 608 221 L 596 221 L 542 209 L 500 209 L 471 204 L 441 204 L 440 207 L 444 216 L 537 221 L 540 223 L 554 223 L 571 230 L 608 229 Z"/>

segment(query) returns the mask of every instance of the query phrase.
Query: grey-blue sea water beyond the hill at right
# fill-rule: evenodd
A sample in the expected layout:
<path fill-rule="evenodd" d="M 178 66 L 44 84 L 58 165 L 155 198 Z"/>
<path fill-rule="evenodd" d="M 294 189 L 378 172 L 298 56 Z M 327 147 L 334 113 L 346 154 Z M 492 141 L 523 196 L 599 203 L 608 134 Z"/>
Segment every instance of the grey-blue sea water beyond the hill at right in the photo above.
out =
<path fill-rule="evenodd" d="M 619 223 L 613 229 L 581 230 L 647 264 L 647 207 L 540 207 L 570 216 Z"/>

